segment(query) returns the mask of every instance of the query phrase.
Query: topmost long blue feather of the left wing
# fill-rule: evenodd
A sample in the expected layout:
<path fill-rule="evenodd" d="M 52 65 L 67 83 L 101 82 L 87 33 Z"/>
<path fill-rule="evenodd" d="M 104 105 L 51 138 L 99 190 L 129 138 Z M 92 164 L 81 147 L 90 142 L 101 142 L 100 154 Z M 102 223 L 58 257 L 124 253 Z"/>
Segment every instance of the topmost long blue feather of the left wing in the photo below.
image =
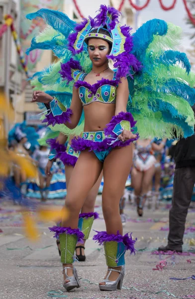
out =
<path fill-rule="evenodd" d="M 30 20 L 39 17 L 43 18 L 48 25 L 52 26 L 55 30 L 59 31 L 67 38 L 71 31 L 75 31 L 74 28 L 77 24 L 65 13 L 47 8 L 42 8 L 36 12 L 28 13 L 26 15 L 26 18 Z"/>

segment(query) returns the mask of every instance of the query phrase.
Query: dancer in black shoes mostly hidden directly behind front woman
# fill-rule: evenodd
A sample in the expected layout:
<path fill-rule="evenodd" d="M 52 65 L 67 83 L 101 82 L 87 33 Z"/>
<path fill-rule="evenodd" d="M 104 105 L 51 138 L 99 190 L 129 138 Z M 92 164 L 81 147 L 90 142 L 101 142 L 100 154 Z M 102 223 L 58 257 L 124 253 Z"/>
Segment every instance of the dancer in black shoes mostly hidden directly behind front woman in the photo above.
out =
<path fill-rule="evenodd" d="M 47 143 L 51 146 L 51 151 L 49 154 L 49 160 L 47 162 L 45 173 L 47 176 L 51 175 L 51 167 L 55 160 L 55 158 L 60 158 L 60 160 L 65 165 L 65 173 L 66 173 L 66 186 L 68 189 L 69 181 L 71 178 L 71 174 L 73 172 L 73 168 L 77 162 L 77 159 L 79 157 L 79 153 L 76 152 L 71 147 L 71 141 L 72 138 L 69 138 L 69 142 L 67 145 L 67 148 L 63 147 L 63 145 L 67 141 L 67 136 L 65 136 L 63 133 L 60 133 L 57 139 L 49 139 L 47 140 Z M 85 262 L 86 256 L 85 256 L 85 243 L 86 240 L 90 236 L 90 232 L 92 229 L 92 225 L 95 219 L 98 218 L 98 213 L 94 212 L 95 208 L 95 201 L 96 196 L 98 194 L 99 185 L 101 182 L 102 173 L 99 175 L 99 178 L 95 185 L 92 187 L 92 189 L 89 191 L 89 194 L 86 197 L 86 200 L 84 202 L 84 205 L 81 209 L 81 213 L 79 214 L 79 229 L 84 233 L 84 240 L 83 242 L 78 242 L 76 246 L 76 258 L 79 262 Z M 60 240 L 56 240 L 58 251 L 61 256 L 61 248 L 60 248 Z"/>

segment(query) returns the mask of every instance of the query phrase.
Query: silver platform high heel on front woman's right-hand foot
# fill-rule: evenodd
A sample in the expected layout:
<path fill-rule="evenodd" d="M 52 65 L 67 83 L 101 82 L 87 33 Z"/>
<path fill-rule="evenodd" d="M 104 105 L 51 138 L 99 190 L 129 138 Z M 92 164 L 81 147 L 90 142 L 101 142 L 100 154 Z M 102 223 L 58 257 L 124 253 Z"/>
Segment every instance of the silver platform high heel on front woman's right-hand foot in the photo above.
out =
<path fill-rule="evenodd" d="M 102 283 L 105 283 L 105 285 L 99 285 L 99 290 L 100 291 L 116 291 L 116 289 L 121 290 L 122 282 L 123 282 L 123 278 L 124 278 L 124 266 L 122 266 L 120 271 L 111 269 L 111 268 L 108 268 L 108 271 L 109 271 L 109 273 L 108 273 L 106 279 L 102 280 Z M 108 280 L 112 271 L 119 273 L 118 278 L 114 282 Z"/>

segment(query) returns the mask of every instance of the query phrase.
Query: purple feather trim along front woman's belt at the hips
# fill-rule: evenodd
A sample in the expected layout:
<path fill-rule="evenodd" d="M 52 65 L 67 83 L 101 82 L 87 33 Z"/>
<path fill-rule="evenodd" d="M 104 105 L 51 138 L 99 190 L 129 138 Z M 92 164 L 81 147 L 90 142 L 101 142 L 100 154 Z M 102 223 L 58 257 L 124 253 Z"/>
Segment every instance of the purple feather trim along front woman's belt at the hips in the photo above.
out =
<path fill-rule="evenodd" d="M 137 138 L 135 139 L 129 139 L 125 142 L 122 142 L 121 140 L 116 141 L 114 144 L 110 146 L 110 143 L 113 141 L 113 139 L 110 138 L 105 138 L 101 142 L 94 142 L 92 140 L 86 140 L 81 137 L 75 137 L 72 139 L 71 146 L 75 151 L 82 151 L 85 149 L 88 149 L 89 151 L 92 150 L 97 150 L 97 151 L 102 151 L 106 149 L 114 149 L 114 148 L 123 148 L 126 146 L 129 146 L 132 142 L 138 140 L 139 135 L 138 133 L 136 134 Z"/>

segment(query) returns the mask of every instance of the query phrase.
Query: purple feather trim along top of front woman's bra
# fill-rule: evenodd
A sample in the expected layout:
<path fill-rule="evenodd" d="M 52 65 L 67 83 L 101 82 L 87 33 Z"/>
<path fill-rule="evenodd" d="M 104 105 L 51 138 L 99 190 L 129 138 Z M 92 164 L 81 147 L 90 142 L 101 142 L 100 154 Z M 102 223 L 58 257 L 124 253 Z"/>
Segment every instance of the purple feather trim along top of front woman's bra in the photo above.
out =
<path fill-rule="evenodd" d="M 117 87 L 119 82 L 120 82 L 120 80 L 109 80 L 109 79 L 102 78 L 101 80 L 98 80 L 95 84 L 91 85 L 90 83 L 88 83 L 86 81 L 78 80 L 75 83 L 75 87 L 79 88 L 81 86 L 84 86 L 84 87 L 88 88 L 89 90 L 91 90 L 91 92 L 95 95 L 100 86 L 102 86 L 102 85 L 111 85 L 111 86 Z"/>

